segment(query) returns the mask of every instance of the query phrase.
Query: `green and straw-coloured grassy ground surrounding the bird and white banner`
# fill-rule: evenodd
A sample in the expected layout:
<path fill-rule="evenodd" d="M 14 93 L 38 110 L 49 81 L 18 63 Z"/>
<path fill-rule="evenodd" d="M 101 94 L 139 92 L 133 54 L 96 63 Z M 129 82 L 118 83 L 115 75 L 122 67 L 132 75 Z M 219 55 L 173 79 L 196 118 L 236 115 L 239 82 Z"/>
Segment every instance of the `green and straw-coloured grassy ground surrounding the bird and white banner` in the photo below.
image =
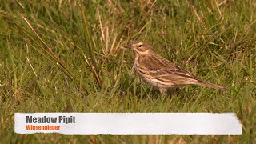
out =
<path fill-rule="evenodd" d="M 256 142 L 255 1 L 0 3 L 2 142 Z M 134 55 L 122 46 L 134 40 L 229 90 L 182 86 L 162 97 L 130 72 Z M 15 112 L 235 112 L 242 136 L 21 135 Z"/>

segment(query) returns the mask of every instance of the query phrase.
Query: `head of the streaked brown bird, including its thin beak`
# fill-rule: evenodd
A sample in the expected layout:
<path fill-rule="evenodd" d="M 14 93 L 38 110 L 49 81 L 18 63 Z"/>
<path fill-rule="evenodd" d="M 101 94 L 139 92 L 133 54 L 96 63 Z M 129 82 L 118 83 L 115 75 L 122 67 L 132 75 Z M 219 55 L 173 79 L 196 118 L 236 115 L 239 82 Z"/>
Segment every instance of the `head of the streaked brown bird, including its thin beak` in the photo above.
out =
<path fill-rule="evenodd" d="M 136 54 L 145 55 L 151 50 L 151 46 L 145 42 L 132 42 L 130 45 L 125 46 L 128 49 L 134 50 Z"/>

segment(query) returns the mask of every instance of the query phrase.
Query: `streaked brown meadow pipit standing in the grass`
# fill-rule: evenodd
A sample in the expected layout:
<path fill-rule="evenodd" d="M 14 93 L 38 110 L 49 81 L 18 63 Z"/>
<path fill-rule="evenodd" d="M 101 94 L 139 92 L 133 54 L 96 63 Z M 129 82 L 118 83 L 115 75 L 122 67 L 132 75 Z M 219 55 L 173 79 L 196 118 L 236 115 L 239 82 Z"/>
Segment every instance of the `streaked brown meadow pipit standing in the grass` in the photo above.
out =
<path fill-rule="evenodd" d="M 167 90 L 183 85 L 207 86 L 217 90 L 227 90 L 225 86 L 218 86 L 214 83 L 204 82 L 189 71 L 182 69 L 159 54 L 154 53 L 152 46 L 142 41 L 135 41 L 124 46 L 134 51 L 134 68 L 139 77 L 156 87 L 162 95 Z"/>

